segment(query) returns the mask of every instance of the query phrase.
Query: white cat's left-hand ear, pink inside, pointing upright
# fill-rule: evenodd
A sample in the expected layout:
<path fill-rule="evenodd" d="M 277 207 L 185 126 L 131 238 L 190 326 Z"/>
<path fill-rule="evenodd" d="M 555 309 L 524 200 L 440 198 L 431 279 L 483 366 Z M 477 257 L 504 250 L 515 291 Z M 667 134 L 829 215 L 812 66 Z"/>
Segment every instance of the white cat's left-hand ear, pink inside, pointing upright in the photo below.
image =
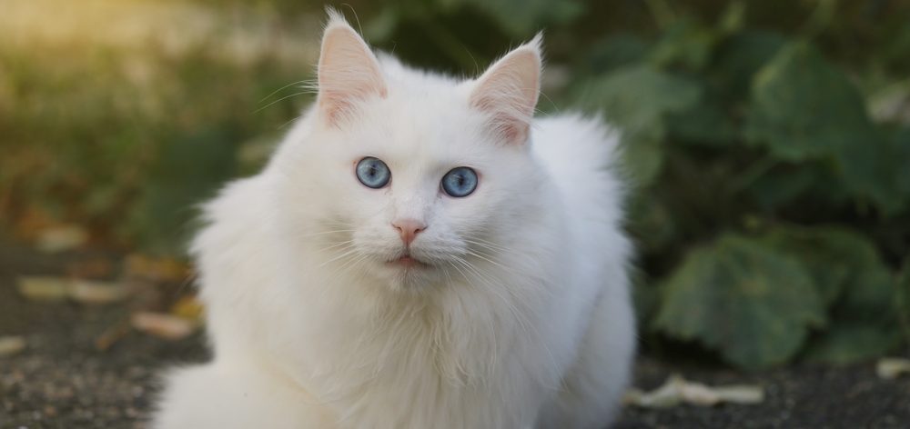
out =
<path fill-rule="evenodd" d="M 386 82 L 376 55 L 345 21 L 329 9 L 329 24 L 319 54 L 319 115 L 338 126 L 354 115 L 357 104 L 369 97 L 385 97 Z"/>

